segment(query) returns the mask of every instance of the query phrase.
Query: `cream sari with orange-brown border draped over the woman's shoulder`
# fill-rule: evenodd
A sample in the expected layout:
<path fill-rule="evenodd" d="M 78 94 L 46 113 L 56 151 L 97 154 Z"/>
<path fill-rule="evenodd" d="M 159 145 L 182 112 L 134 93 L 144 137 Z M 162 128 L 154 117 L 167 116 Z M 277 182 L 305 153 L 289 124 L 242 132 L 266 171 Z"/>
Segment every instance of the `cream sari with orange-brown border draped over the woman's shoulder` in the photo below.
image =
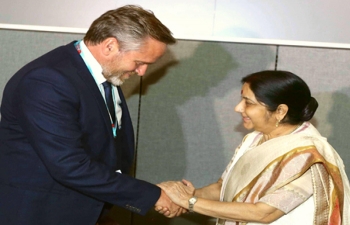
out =
<path fill-rule="evenodd" d="M 222 176 L 221 201 L 257 203 L 283 188 L 300 196 L 310 191 L 314 206 L 311 224 L 350 225 L 349 180 L 342 159 L 326 138 L 309 122 L 304 122 L 292 134 L 258 145 L 261 136 L 259 132 L 248 134 L 236 149 Z M 310 190 L 305 190 L 303 179 L 311 182 Z M 283 198 L 283 202 L 294 200 L 288 199 L 288 195 Z M 307 198 L 305 194 L 305 201 Z M 279 199 L 272 197 L 271 201 Z M 282 203 L 273 206 L 286 214 L 292 212 L 293 207 L 299 207 Z M 299 224 L 306 224 L 299 219 Z M 217 220 L 217 225 L 223 224 L 247 223 Z"/>

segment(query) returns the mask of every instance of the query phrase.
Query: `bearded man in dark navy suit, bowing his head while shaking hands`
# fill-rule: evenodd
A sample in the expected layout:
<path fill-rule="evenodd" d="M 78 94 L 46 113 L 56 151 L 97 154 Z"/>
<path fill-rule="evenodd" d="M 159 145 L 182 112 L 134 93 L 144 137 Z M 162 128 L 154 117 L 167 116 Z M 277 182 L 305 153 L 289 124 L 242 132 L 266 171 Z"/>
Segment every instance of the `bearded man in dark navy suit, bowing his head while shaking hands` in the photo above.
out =
<path fill-rule="evenodd" d="M 173 43 L 152 12 L 128 5 L 9 80 L 1 105 L 0 224 L 93 225 L 105 203 L 142 215 L 153 206 L 170 209 L 169 217 L 180 212 L 159 187 L 127 175 L 134 136 L 119 87 L 144 75 Z"/>

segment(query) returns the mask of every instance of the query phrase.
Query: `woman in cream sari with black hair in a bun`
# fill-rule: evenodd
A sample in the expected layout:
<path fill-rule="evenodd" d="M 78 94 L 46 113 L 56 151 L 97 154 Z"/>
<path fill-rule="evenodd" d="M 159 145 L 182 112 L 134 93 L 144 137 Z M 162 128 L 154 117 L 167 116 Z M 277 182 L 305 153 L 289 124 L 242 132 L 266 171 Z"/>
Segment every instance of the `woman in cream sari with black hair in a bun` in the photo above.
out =
<path fill-rule="evenodd" d="M 349 180 L 339 155 L 307 122 L 318 103 L 306 83 L 287 71 L 262 71 L 242 84 L 235 111 L 254 131 L 222 177 L 199 189 L 186 180 L 159 186 L 217 224 L 350 224 Z"/>

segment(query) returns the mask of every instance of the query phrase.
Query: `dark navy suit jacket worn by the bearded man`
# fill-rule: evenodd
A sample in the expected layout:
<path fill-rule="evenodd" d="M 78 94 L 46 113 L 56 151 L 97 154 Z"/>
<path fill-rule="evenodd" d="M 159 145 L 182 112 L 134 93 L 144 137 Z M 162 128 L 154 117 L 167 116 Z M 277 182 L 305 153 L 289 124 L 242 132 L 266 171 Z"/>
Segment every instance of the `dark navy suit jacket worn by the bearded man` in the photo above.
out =
<path fill-rule="evenodd" d="M 157 186 L 115 172 L 127 173 L 134 157 L 120 97 L 122 141 L 114 143 L 104 100 L 73 42 L 9 80 L 1 105 L 0 224 L 89 225 L 105 202 L 139 214 L 154 206 Z"/>

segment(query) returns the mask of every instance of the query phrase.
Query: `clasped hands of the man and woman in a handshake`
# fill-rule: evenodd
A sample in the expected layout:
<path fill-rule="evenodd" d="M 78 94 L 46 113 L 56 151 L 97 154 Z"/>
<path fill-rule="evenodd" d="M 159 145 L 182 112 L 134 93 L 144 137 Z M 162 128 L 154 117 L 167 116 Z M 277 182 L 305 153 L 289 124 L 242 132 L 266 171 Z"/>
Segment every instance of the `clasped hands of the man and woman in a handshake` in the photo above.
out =
<path fill-rule="evenodd" d="M 168 218 L 180 216 L 188 212 L 188 199 L 194 195 L 195 187 L 190 181 L 166 181 L 157 184 L 161 196 L 155 205 L 155 210 Z"/>

